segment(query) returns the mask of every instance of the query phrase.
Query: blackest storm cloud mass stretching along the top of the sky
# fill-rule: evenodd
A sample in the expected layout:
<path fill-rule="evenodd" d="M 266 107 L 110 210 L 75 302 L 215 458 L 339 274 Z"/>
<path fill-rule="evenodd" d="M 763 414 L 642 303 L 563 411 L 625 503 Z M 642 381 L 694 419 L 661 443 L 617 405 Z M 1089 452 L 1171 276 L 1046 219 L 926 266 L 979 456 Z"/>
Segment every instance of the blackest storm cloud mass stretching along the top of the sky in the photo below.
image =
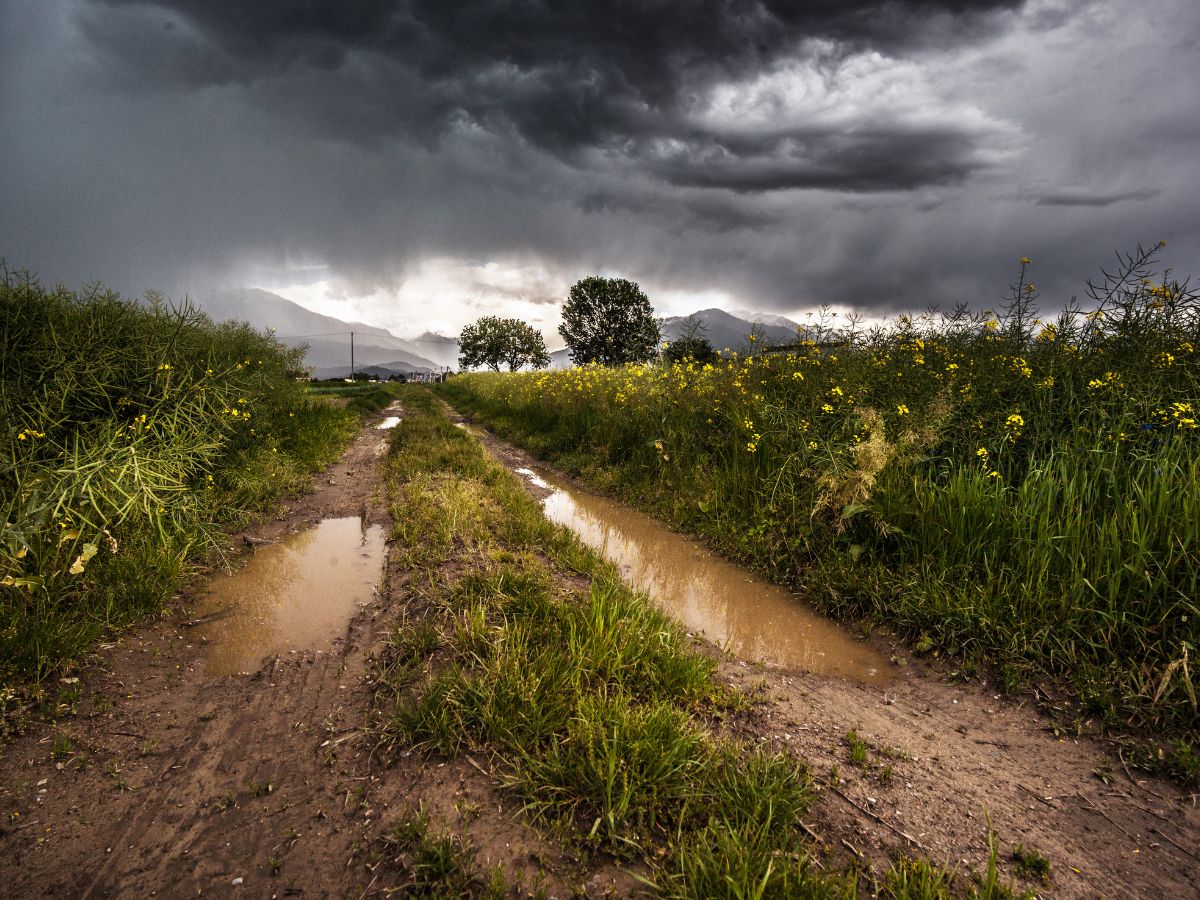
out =
<path fill-rule="evenodd" d="M 127 85 L 241 84 L 325 137 L 439 146 L 480 128 L 577 168 L 743 192 L 892 191 L 960 181 L 990 136 L 886 120 L 847 133 L 794 122 L 730 133 L 703 121 L 719 84 L 797 59 L 958 46 L 1016 0 L 484 2 L 103 0 L 89 38 Z M 812 42 L 823 42 L 820 50 Z M 176 64 L 178 61 L 178 64 Z M 317 73 L 323 90 L 304 90 Z M 596 157 L 601 157 L 598 162 Z"/>

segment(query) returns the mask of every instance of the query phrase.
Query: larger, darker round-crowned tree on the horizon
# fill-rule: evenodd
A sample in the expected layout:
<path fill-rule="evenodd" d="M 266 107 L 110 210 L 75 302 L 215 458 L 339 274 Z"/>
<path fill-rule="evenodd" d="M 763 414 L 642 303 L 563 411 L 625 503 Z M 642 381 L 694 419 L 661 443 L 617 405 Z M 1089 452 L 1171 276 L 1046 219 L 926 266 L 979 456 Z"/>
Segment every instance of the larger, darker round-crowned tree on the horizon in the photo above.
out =
<path fill-rule="evenodd" d="M 659 349 L 659 324 L 642 289 L 624 278 L 592 275 L 571 286 L 558 334 L 576 365 L 644 362 Z"/>

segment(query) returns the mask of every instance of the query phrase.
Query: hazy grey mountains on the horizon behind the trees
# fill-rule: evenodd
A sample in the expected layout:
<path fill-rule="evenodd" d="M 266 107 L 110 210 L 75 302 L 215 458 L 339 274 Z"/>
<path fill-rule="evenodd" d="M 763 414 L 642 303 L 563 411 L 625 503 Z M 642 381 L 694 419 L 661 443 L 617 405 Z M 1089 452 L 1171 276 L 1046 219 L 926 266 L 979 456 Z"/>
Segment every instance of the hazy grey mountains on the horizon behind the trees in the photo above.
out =
<path fill-rule="evenodd" d="M 396 337 L 386 329 L 361 322 L 344 322 L 304 308 L 299 304 L 258 288 L 242 288 L 198 300 L 196 305 L 216 320 L 238 319 L 259 329 L 274 329 L 289 347 L 306 344 L 305 361 L 317 378 L 344 378 L 350 373 L 350 332 L 354 334 L 354 371 L 386 378 L 391 373 L 424 373 L 458 367 L 458 340 L 426 331 L 419 337 Z M 691 316 L 661 320 L 664 341 L 677 341 L 700 323 L 700 334 L 718 350 L 744 350 L 746 336 L 757 324 L 768 344 L 796 340 L 798 325 L 782 316 L 738 310 L 700 310 Z M 553 368 L 571 365 L 570 352 L 550 354 Z"/>

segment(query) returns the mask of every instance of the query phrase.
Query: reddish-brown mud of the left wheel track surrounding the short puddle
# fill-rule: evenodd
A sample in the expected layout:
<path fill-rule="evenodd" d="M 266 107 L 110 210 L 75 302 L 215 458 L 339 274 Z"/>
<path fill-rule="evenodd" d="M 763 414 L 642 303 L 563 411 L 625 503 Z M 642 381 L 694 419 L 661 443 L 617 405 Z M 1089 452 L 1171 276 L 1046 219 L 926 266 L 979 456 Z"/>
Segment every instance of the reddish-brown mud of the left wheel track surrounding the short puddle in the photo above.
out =
<path fill-rule="evenodd" d="M 323 520 L 388 529 L 376 424 L 312 493 L 233 535 L 241 562 Z M 56 721 L 0 746 L 0 896 L 394 895 L 406 874 L 384 838 L 419 803 L 520 895 L 629 893 L 628 875 L 526 826 L 486 761 L 382 758 L 372 654 L 414 602 L 394 562 L 324 647 L 270 655 L 251 674 L 210 674 L 187 624 L 214 576 L 224 577 L 197 580 L 160 619 L 98 648 L 78 684 L 61 685 L 72 700 Z"/>

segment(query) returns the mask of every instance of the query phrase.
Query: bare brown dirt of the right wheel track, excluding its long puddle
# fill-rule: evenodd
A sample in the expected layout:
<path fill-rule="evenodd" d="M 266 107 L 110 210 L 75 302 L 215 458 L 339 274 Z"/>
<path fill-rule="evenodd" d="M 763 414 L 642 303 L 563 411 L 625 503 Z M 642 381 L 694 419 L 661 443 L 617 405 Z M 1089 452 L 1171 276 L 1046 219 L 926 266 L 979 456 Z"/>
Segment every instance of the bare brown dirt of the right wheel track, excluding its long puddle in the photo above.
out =
<path fill-rule="evenodd" d="M 509 468 L 538 464 L 476 433 Z M 834 865 L 862 857 L 886 868 L 906 853 L 982 872 L 990 818 L 1019 887 L 1054 896 L 1200 895 L 1200 797 L 1126 769 L 1103 742 L 1056 734 L 1028 696 L 1001 696 L 978 679 L 952 683 L 905 647 L 874 640 L 907 664 L 893 666 L 883 686 L 731 656 L 721 666 L 728 683 L 762 700 L 742 733 L 811 763 L 824 799 L 809 824 Z M 850 761 L 848 732 L 866 745 L 863 764 Z M 1018 845 L 1050 860 L 1049 881 L 1020 877 L 1008 859 Z"/>

